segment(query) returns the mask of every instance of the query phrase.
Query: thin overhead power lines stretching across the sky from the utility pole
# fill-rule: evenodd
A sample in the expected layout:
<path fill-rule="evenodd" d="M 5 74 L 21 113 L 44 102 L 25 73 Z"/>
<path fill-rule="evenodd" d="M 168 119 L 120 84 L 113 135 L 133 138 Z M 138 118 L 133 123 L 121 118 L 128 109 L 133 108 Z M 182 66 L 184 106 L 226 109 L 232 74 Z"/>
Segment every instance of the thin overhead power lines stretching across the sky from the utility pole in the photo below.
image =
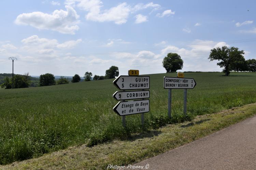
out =
<path fill-rule="evenodd" d="M 201 43 L 201 44 L 191 44 L 191 45 L 180 45 L 180 46 L 171 46 L 171 47 L 178 47 L 178 48 L 188 48 L 188 47 L 201 47 L 201 46 L 210 46 L 216 45 L 216 43 L 227 43 L 227 44 L 235 44 L 235 43 L 249 43 L 255 42 L 256 38 L 251 39 L 240 39 L 240 40 L 232 40 L 232 41 L 212 41 L 210 43 Z M 58 57 L 79 57 L 79 56 L 90 56 L 90 55 L 107 55 L 107 54 L 118 54 L 118 53 L 134 53 L 139 51 L 158 51 L 163 50 L 165 48 L 169 48 L 168 46 L 165 47 L 156 47 L 156 48 L 146 48 L 146 49 L 134 49 L 134 50 L 124 50 L 124 51 L 112 51 L 112 52 L 98 52 L 98 53 L 87 53 L 87 54 L 77 54 L 77 55 L 61 55 L 61 56 L 52 56 L 52 57 L 34 57 L 34 58 L 24 58 L 20 60 L 31 60 L 31 59 L 51 59 L 51 58 L 58 58 Z"/>

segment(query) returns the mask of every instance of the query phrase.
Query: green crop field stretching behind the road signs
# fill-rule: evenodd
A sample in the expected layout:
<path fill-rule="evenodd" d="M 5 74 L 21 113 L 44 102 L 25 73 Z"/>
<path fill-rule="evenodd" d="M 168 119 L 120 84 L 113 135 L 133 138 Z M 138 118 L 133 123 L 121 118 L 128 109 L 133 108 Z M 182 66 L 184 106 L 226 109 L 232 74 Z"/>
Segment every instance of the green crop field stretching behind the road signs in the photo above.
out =
<path fill-rule="evenodd" d="M 43 153 L 87 143 L 89 146 L 196 115 L 256 102 L 256 74 L 185 73 L 197 85 L 188 89 L 188 116 L 183 115 L 183 90 L 172 90 L 172 119 L 167 117 L 168 90 L 163 77 L 150 75 L 150 112 L 145 127 L 140 115 L 122 119 L 112 111 L 117 88 L 111 80 L 0 90 L 0 164 L 37 157 Z"/>

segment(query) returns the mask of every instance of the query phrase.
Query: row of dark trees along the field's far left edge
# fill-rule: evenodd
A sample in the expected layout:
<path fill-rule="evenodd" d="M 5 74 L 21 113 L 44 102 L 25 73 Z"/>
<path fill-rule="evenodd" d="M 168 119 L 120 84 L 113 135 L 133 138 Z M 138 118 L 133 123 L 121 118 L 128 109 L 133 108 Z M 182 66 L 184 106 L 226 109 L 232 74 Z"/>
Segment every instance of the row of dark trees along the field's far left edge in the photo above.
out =
<path fill-rule="evenodd" d="M 119 75 L 118 67 L 111 66 L 105 72 L 105 76 L 94 75 L 93 80 L 103 80 L 103 79 L 113 79 Z M 84 79 L 85 81 L 90 81 L 92 79 L 93 74 L 91 72 L 85 72 Z M 75 74 L 72 77 L 71 82 L 77 83 L 81 81 L 81 77 L 78 74 Z M 38 86 L 51 86 L 51 85 L 59 85 L 59 84 L 68 84 L 69 81 L 64 76 L 61 76 L 60 79 L 55 81 L 55 77 L 51 73 L 41 74 L 39 77 Z M 10 89 L 10 88 L 27 88 L 31 84 L 31 76 L 29 73 L 25 73 L 24 75 L 16 74 L 12 79 L 9 77 L 5 77 L 3 83 L 1 84 L 1 88 Z"/>

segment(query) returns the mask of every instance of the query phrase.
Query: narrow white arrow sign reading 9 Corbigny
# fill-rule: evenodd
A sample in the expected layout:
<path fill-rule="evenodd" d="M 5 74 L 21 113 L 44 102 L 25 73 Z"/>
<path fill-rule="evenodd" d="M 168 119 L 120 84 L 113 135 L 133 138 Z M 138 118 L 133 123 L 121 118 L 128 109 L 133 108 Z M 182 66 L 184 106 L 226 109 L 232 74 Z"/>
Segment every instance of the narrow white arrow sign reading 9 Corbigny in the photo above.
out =
<path fill-rule="evenodd" d="M 116 91 L 113 98 L 116 100 L 147 99 L 150 98 L 150 91 Z"/>

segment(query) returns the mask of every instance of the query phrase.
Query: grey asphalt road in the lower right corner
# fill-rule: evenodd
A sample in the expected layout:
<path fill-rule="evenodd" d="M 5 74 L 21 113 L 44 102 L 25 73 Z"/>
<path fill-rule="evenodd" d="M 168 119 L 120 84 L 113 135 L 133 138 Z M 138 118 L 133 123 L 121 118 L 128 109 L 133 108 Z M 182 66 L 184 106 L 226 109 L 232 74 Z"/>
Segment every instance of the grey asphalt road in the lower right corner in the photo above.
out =
<path fill-rule="evenodd" d="M 146 159 L 148 169 L 256 169 L 256 116 Z"/>

